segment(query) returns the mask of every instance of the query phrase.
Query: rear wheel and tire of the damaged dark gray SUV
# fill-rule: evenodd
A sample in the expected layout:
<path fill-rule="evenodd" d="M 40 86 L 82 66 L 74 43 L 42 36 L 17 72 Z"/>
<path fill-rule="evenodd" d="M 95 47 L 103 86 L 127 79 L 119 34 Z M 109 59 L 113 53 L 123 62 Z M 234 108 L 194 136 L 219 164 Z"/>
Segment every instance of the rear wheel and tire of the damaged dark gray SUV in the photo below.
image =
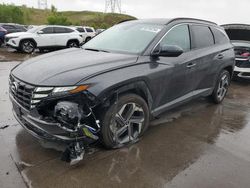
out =
<path fill-rule="evenodd" d="M 228 86 L 230 85 L 230 73 L 227 70 L 223 70 L 216 82 L 214 91 L 210 98 L 216 104 L 221 103 L 228 91 Z"/>

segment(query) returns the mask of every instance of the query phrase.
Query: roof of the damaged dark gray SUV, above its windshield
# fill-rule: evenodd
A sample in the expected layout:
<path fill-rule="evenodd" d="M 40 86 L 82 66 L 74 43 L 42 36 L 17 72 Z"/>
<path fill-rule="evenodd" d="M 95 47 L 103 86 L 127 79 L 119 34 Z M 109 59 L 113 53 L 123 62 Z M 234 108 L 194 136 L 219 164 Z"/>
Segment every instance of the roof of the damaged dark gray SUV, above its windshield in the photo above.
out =
<path fill-rule="evenodd" d="M 194 23 L 218 26 L 214 22 L 196 19 L 196 18 L 153 18 L 153 19 L 125 20 L 122 22 L 127 22 L 127 21 L 138 22 L 138 23 L 148 23 L 148 24 L 160 24 L 160 25 L 167 25 L 172 22 L 180 21 L 180 22 L 194 22 Z"/>

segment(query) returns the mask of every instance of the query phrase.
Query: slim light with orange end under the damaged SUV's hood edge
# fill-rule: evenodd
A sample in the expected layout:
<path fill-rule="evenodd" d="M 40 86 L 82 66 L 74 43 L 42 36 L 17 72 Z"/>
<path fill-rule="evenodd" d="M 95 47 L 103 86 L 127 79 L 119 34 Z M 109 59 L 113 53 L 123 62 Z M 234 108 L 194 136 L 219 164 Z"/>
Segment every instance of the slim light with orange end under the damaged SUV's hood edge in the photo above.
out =
<path fill-rule="evenodd" d="M 81 91 L 85 91 L 89 88 L 88 85 L 82 86 L 70 86 L 70 87 L 55 87 L 52 91 L 52 95 L 57 94 L 74 94 Z"/>

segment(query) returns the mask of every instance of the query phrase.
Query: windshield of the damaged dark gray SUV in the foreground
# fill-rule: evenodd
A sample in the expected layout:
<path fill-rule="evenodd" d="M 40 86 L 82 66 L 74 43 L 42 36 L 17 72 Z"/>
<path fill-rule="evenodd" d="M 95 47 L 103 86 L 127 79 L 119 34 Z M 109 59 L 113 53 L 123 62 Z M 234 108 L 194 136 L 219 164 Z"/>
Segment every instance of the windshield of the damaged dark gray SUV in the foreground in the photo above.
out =
<path fill-rule="evenodd" d="M 146 49 L 163 27 L 163 25 L 145 23 L 119 24 L 97 35 L 83 45 L 83 48 L 139 54 Z"/>

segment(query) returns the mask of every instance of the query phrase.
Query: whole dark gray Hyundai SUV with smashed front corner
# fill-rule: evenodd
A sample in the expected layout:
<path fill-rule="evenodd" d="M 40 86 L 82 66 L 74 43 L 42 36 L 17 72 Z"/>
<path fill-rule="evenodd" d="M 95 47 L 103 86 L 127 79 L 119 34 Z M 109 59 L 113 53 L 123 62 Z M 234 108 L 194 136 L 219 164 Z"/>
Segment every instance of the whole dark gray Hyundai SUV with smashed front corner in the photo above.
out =
<path fill-rule="evenodd" d="M 69 159 L 100 140 L 135 142 L 162 112 L 197 97 L 224 99 L 234 69 L 224 30 L 196 19 L 118 24 L 86 43 L 42 55 L 10 74 L 14 115 L 32 135 L 69 144 Z"/>

